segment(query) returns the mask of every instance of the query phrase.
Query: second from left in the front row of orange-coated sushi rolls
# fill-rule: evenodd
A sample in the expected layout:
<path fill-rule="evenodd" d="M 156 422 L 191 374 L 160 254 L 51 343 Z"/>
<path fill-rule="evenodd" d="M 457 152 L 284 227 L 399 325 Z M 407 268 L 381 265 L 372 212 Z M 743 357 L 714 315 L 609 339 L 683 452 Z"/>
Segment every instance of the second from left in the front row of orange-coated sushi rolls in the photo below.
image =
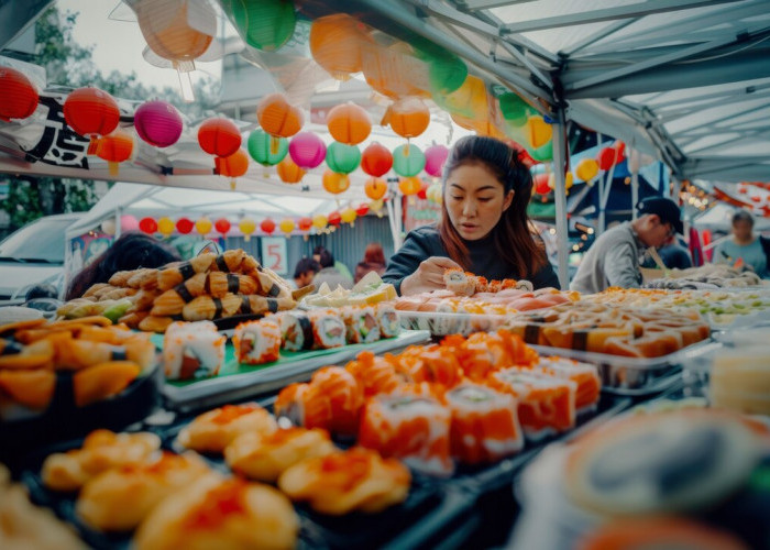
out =
<path fill-rule="evenodd" d="M 446 399 L 452 413 L 452 457 L 460 462 L 494 462 L 524 447 L 516 399 L 509 394 L 465 383 L 448 392 Z"/>

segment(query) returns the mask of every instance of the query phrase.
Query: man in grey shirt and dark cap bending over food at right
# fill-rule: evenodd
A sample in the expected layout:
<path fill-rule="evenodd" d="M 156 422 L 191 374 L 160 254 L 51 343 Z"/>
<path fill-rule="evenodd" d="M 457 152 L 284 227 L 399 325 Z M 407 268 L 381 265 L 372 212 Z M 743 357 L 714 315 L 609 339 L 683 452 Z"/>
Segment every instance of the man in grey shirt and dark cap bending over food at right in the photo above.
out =
<path fill-rule="evenodd" d="M 660 248 L 675 233 L 682 233 L 676 202 L 662 197 L 637 205 L 639 217 L 602 233 L 578 268 L 571 290 L 595 294 L 610 286 L 638 288 L 641 285 L 640 256 L 645 249 Z"/>

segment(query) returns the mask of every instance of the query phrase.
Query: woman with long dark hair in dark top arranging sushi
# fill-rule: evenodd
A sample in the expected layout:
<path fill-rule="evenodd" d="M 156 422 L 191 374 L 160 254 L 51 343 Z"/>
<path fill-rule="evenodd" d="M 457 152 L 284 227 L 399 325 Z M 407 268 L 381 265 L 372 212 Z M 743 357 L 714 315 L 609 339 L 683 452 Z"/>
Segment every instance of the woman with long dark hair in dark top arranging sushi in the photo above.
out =
<path fill-rule="evenodd" d="M 531 194 L 532 176 L 508 145 L 492 138 L 463 138 L 444 165 L 441 220 L 409 232 L 383 279 L 403 296 L 444 288 L 443 274 L 450 268 L 559 288 L 544 244 L 527 217 Z"/>

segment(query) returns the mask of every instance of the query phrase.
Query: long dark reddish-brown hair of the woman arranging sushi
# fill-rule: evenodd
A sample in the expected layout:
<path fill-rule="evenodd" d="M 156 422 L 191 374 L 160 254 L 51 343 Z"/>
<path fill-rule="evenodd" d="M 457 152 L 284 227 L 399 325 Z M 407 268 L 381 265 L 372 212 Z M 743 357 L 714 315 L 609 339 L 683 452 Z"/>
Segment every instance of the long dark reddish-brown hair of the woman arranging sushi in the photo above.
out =
<path fill-rule="evenodd" d="M 546 265 L 546 250 L 542 241 L 534 237 L 527 216 L 527 205 L 532 196 L 532 175 L 519 161 L 518 153 L 499 140 L 480 135 L 469 135 L 459 140 L 449 153 L 443 167 L 443 185 L 450 174 L 463 165 L 480 165 L 503 185 L 505 194 L 514 191 L 510 207 L 503 212 L 497 226 L 492 230 L 495 250 L 518 277 L 532 275 Z M 441 205 L 439 235 L 449 256 L 465 270 L 470 268 L 468 244 L 457 228 L 452 226 L 447 211 L 447 201 Z"/>

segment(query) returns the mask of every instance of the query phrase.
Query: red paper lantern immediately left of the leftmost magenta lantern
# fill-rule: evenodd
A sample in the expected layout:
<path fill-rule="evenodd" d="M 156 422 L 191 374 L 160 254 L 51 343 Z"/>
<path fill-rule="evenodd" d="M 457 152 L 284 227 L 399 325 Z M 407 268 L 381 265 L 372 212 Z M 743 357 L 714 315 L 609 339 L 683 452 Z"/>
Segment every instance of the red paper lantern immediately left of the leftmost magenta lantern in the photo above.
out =
<path fill-rule="evenodd" d="M 64 100 L 64 120 L 76 133 L 90 138 L 88 153 L 96 152 L 96 141 L 118 128 L 120 109 L 112 96 L 99 88 L 78 88 Z"/>

